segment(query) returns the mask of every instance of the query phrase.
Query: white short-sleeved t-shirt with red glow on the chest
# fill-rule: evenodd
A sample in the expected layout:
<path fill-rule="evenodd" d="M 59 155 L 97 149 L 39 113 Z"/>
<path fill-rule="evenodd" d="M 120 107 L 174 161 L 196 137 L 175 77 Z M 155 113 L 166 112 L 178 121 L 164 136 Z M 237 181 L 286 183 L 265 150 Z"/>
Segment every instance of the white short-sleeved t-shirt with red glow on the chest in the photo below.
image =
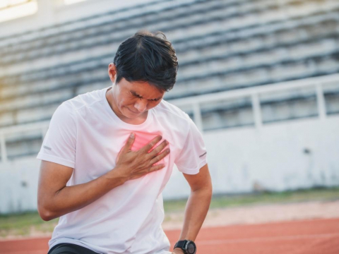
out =
<path fill-rule="evenodd" d="M 203 138 L 186 113 L 163 99 L 148 111 L 144 123 L 121 121 L 107 102 L 108 88 L 63 102 L 52 116 L 37 159 L 72 167 L 66 186 L 87 183 L 114 169 L 133 131 L 132 150 L 159 134 L 169 141 L 171 152 L 163 159 L 166 167 L 126 181 L 90 205 L 61 216 L 49 248 L 73 243 L 97 253 L 171 253 L 161 226 L 162 190 L 174 164 L 185 174 L 197 174 L 207 163 Z"/>

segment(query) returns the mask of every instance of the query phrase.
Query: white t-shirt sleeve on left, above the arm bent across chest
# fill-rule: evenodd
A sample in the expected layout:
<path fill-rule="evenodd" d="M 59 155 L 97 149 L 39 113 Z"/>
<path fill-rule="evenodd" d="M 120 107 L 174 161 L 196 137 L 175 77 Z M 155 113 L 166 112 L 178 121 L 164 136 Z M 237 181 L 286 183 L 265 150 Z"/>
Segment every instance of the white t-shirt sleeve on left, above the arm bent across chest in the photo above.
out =
<path fill-rule="evenodd" d="M 76 119 L 73 111 L 61 104 L 49 122 L 37 159 L 74 169 L 76 161 Z"/>

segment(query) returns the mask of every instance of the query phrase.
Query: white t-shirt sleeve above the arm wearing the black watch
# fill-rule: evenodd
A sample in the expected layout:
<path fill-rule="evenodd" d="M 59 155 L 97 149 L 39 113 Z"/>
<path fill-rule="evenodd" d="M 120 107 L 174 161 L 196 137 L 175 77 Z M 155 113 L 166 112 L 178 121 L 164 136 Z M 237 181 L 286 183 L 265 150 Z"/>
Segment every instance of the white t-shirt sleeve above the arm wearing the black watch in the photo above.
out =
<path fill-rule="evenodd" d="M 174 163 L 179 171 L 185 174 L 198 174 L 201 167 L 207 164 L 207 152 L 203 142 L 203 135 L 201 135 L 196 124 L 191 119 L 189 119 L 189 131 L 186 135 L 184 146 Z"/>

